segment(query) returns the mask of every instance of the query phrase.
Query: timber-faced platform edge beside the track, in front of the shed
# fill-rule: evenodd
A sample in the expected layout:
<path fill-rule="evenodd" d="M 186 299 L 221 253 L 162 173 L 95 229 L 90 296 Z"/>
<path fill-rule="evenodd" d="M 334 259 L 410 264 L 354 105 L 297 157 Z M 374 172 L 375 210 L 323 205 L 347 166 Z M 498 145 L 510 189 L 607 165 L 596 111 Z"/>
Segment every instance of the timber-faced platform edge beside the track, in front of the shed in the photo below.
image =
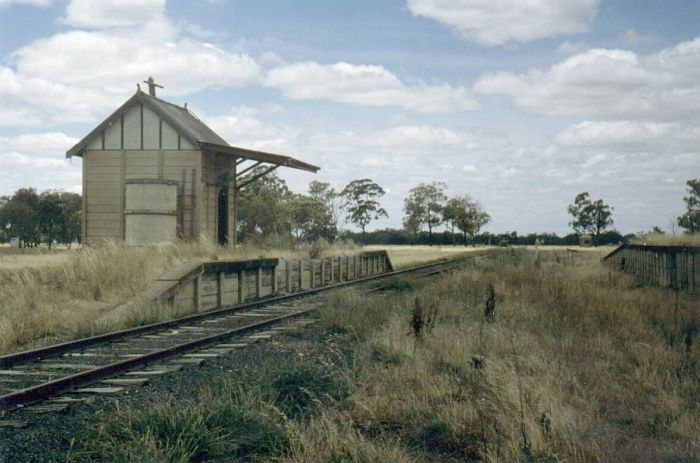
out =
<path fill-rule="evenodd" d="M 386 251 L 322 259 L 213 261 L 174 269 L 142 297 L 199 312 L 392 270 Z"/>

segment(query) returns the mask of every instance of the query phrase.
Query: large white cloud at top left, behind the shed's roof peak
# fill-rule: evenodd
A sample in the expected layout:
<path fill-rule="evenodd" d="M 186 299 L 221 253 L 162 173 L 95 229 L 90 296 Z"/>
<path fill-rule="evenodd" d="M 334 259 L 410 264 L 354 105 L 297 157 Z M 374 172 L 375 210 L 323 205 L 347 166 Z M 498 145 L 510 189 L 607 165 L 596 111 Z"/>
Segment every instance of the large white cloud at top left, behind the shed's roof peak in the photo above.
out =
<path fill-rule="evenodd" d="M 145 10 L 131 3 L 73 0 L 64 21 L 97 30 L 62 32 L 16 50 L 13 67 L 0 66 L 0 124 L 93 121 L 151 75 L 165 83 L 166 96 L 259 80 L 250 56 L 182 37 L 163 1 L 143 3 Z"/>

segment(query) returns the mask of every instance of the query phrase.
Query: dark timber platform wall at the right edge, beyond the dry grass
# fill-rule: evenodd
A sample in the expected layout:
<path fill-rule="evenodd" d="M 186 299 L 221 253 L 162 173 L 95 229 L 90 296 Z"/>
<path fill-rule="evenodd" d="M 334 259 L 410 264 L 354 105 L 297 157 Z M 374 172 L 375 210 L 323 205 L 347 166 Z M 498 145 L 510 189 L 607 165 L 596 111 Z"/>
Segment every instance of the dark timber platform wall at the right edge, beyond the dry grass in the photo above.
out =
<path fill-rule="evenodd" d="M 700 248 L 625 244 L 603 259 L 648 284 L 695 293 L 700 289 Z"/>

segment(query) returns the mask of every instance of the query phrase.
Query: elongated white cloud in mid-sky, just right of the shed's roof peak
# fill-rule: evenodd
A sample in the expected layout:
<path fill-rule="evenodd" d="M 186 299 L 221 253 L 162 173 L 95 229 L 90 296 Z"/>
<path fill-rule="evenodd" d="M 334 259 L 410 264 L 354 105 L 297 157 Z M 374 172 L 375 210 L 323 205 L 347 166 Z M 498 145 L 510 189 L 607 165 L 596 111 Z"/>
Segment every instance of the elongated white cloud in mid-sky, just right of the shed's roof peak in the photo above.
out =
<path fill-rule="evenodd" d="M 478 104 L 464 87 L 406 84 L 383 66 L 305 62 L 272 69 L 265 85 L 292 100 L 398 106 L 421 112 L 469 111 Z"/>

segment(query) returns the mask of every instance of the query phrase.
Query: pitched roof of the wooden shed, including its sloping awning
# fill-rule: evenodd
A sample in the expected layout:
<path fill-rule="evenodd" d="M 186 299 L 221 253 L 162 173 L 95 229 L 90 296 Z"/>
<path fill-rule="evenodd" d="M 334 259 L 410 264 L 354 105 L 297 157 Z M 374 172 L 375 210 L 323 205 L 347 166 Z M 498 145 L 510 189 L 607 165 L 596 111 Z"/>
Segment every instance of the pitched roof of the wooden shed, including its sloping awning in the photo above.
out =
<path fill-rule="evenodd" d="M 100 136 L 104 130 L 110 127 L 122 116 L 122 114 L 124 114 L 132 105 L 136 103 L 141 103 L 151 109 L 163 121 L 170 124 L 176 132 L 186 138 L 187 141 L 189 141 L 193 146 L 200 149 L 206 149 L 208 151 L 229 154 L 260 162 L 268 162 L 294 169 L 307 170 L 310 172 L 316 172 L 319 170 L 317 166 L 299 161 L 289 156 L 231 146 L 226 143 L 226 140 L 217 135 L 216 132 L 214 132 L 186 108 L 151 96 L 144 93 L 140 89 L 137 90 L 131 98 L 126 100 L 123 105 L 117 108 L 117 110 L 114 111 L 107 119 L 105 119 L 104 122 L 95 127 L 82 140 L 76 143 L 75 146 L 66 151 L 66 157 L 82 156 L 85 149 L 95 139 L 95 137 Z"/>

